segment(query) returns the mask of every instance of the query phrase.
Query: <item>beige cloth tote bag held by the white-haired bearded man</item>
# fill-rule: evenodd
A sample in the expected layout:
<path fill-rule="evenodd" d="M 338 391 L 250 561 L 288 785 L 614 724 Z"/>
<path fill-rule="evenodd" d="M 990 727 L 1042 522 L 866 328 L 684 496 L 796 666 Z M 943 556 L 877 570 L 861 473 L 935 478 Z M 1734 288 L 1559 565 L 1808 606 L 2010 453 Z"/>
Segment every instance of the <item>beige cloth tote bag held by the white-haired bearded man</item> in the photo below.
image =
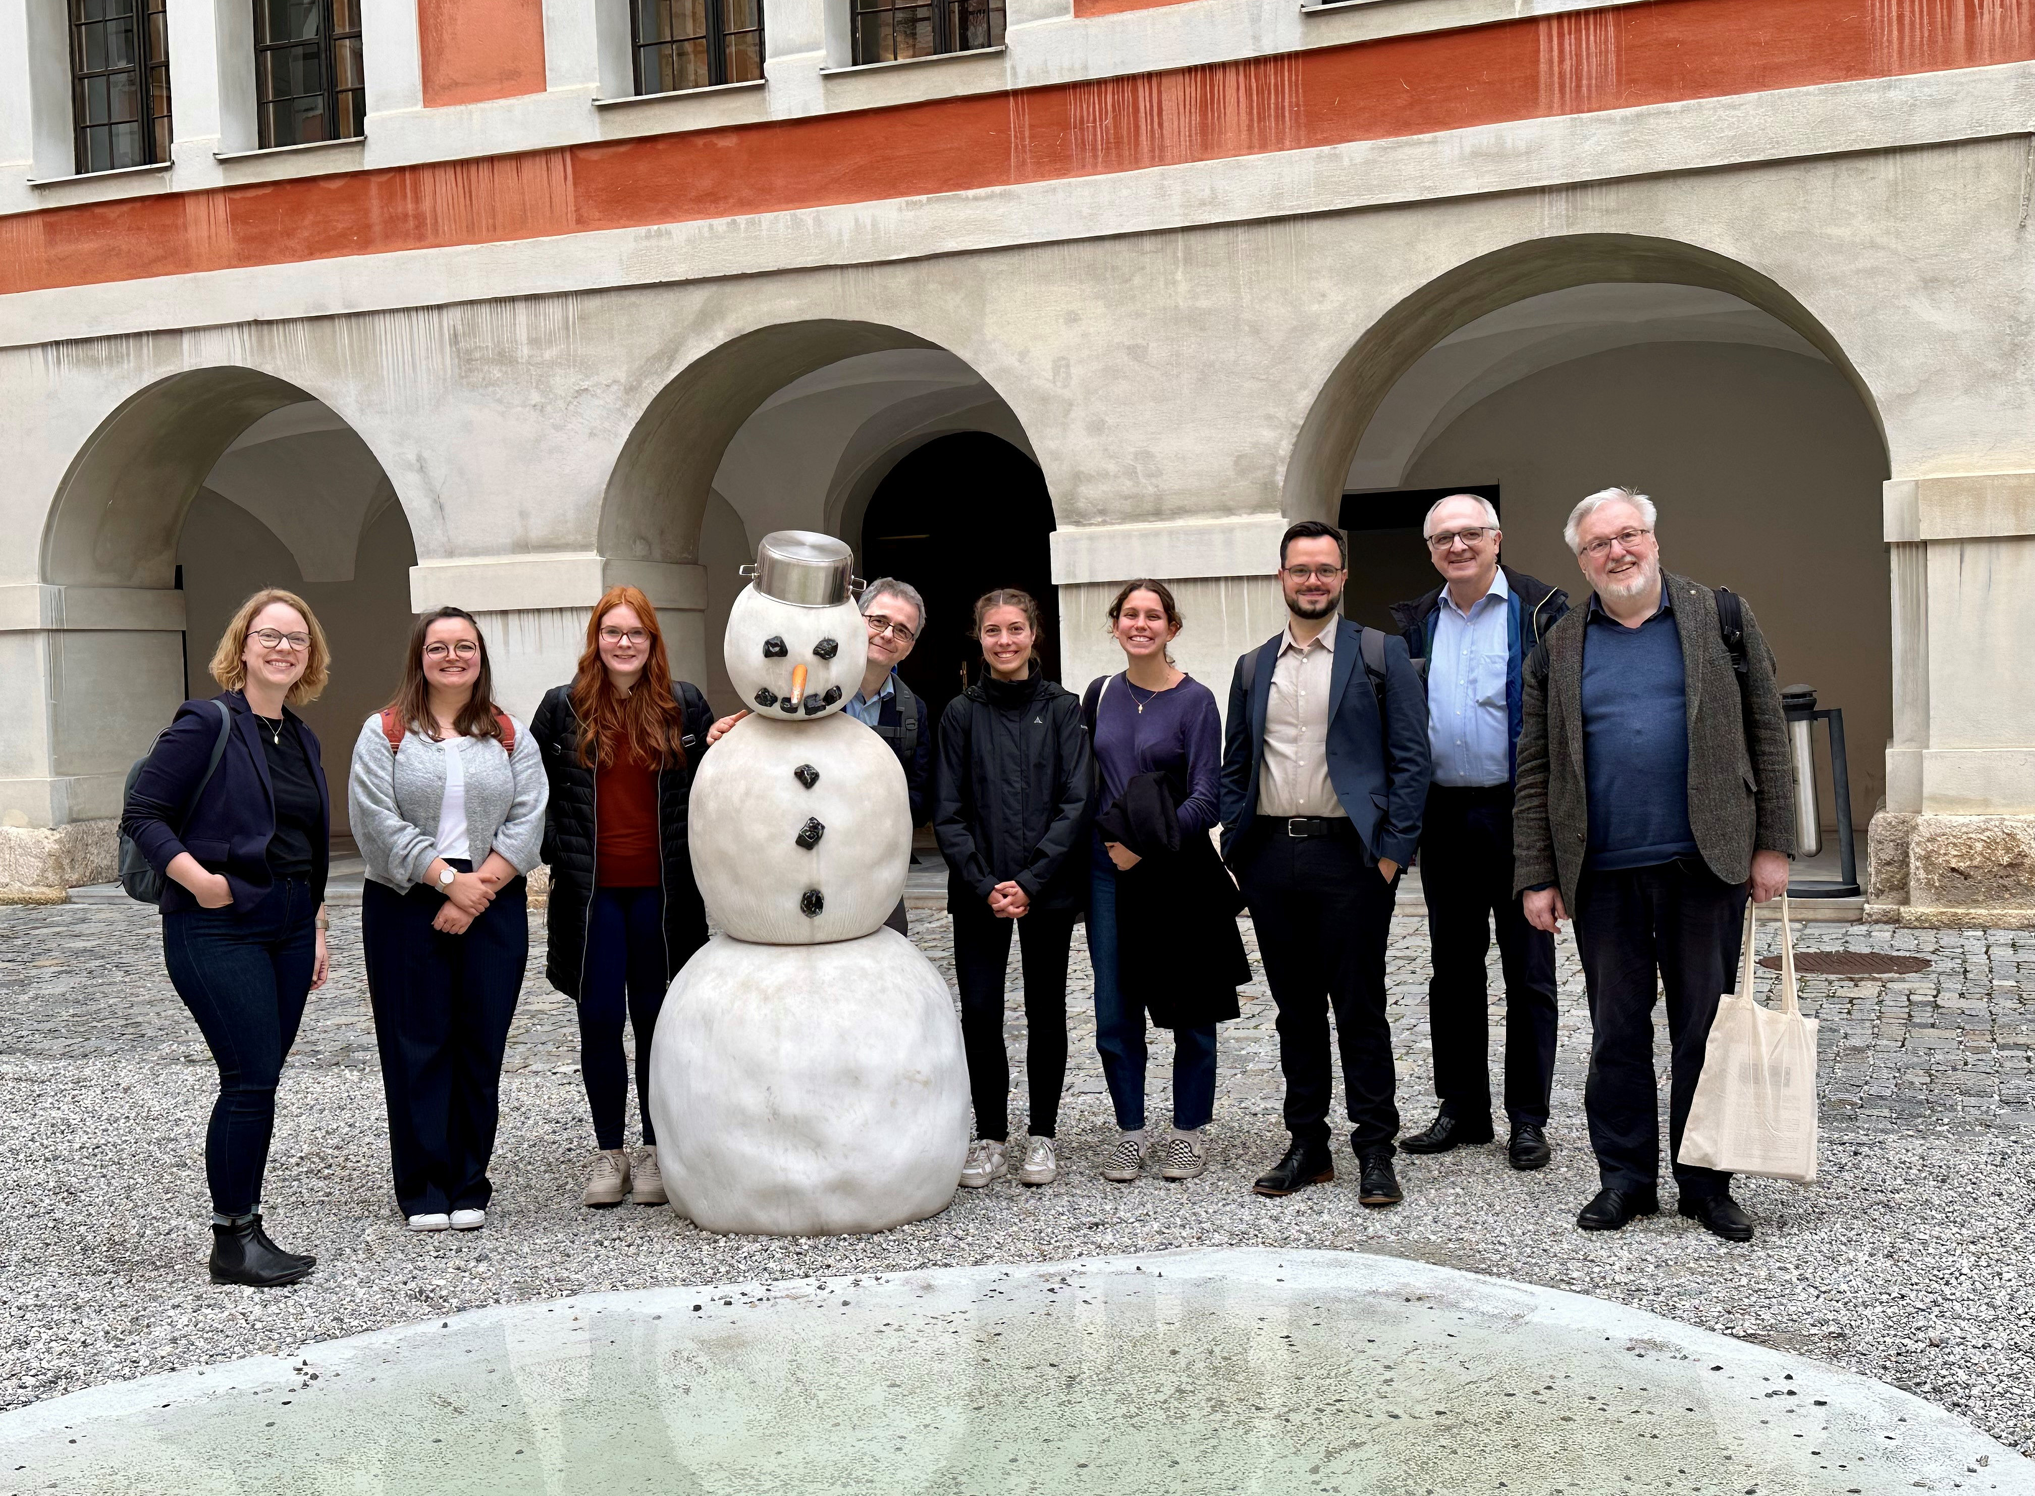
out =
<path fill-rule="evenodd" d="M 1738 991 L 1718 1001 L 1681 1162 L 1807 1185 L 1815 1178 L 1815 1020 L 1795 991 L 1795 930 L 1781 896 L 1781 1005 L 1752 999 L 1752 910 Z"/>

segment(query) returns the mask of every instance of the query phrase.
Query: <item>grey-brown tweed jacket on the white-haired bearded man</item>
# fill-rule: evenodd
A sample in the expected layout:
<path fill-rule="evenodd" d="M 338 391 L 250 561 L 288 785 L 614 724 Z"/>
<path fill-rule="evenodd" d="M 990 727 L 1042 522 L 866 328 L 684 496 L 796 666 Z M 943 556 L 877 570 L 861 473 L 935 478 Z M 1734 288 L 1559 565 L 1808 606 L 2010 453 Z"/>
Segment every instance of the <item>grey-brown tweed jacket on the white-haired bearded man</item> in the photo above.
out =
<path fill-rule="evenodd" d="M 1718 633 L 1718 598 L 1707 586 L 1661 574 L 1673 598 L 1689 700 L 1689 826 L 1703 861 L 1726 883 L 1752 875 L 1754 851 L 1795 851 L 1795 775 L 1775 655 L 1752 609 L 1744 607 L 1746 684 Z M 1561 885 L 1575 914 L 1589 847 L 1583 780 L 1583 631 L 1577 607 L 1547 631 L 1524 670 L 1518 792 L 1512 802 L 1512 887 Z"/>

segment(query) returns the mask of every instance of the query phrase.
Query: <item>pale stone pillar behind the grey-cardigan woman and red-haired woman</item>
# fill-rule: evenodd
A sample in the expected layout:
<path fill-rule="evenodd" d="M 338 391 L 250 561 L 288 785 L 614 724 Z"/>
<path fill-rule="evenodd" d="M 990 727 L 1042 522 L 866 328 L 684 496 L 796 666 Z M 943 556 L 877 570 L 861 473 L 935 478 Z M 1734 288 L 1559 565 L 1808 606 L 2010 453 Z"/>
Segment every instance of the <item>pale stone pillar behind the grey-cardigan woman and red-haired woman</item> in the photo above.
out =
<path fill-rule="evenodd" d="M 706 570 L 625 562 L 594 552 L 468 556 L 421 562 L 409 574 L 417 613 L 466 609 L 488 639 L 497 700 L 523 721 L 564 686 L 586 647 L 586 615 L 610 586 L 637 586 L 657 609 L 672 674 L 706 680 Z"/>

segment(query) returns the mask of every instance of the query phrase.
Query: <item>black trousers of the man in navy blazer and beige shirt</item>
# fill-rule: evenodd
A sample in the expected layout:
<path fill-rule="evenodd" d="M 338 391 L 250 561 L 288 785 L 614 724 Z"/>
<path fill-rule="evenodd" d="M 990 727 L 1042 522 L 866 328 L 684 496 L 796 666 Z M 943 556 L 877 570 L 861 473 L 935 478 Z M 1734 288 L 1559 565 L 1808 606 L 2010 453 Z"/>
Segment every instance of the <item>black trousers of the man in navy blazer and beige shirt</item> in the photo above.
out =
<path fill-rule="evenodd" d="M 1272 1001 L 1278 1062 L 1286 1073 L 1286 1130 L 1294 1142 L 1329 1140 L 1333 1075 L 1329 1010 L 1343 1056 L 1349 1146 L 1392 1152 L 1392 1026 L 1386 1022 L 1386 940 L 1398 879 L 1355 832 L 1286 837 L 1270 820 L 1243 832 L 1237 883 L 1258 928 Z"/>

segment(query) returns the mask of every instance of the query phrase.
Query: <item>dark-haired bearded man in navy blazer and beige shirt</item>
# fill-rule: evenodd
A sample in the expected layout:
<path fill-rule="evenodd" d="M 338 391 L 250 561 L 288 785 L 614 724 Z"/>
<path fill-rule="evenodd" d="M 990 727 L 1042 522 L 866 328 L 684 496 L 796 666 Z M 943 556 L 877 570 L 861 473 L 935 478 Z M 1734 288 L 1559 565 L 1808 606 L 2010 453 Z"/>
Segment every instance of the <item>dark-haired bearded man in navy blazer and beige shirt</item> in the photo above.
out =
<path fill-rule="evenodd" d="M 1337 617 L 1349 554 L 1315 519 L 1280 539 L 1286 629 L 1237 659 L 1223 745 L 1223 857 L 1237 873 L 1286 1073 L 1286 1156 L 1260 1195 L 1335 1178 L 1329 1010 L 1343 1056 L 1357 1199 L 1402 1199 L 1386 940 L 1427 804 L 1427 696 L 1406 641 Z"/>

